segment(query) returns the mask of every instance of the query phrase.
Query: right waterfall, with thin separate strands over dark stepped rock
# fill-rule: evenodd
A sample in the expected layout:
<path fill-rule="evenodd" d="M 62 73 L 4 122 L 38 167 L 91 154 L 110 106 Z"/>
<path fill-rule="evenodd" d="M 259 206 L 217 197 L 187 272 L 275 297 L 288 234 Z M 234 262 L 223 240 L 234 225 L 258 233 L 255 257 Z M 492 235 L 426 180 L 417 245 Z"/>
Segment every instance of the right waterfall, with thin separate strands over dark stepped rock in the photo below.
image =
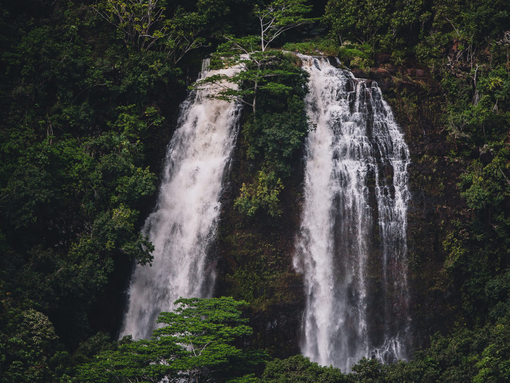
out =
<path fill-rule="evenodd" d="M 375 82 L 325 58 L 310 73 L 304 204 L 294 266 L 304 277 L 302 353 L 343 371 L 409 352 L 409 150 Z"/>

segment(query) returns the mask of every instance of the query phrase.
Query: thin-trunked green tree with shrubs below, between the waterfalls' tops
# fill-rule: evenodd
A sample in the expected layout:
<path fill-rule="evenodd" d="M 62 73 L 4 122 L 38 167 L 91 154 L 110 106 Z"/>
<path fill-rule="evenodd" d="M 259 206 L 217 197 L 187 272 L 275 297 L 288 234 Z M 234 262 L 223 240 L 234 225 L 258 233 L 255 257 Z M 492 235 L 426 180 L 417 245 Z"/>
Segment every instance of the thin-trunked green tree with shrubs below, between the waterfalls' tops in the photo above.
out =
<path fill-rule="evenodd" d="M 273 218 L 281 215 L 278 196 L 284 188 L 282 178 L 290 175 L 290 163 L 313 128 L 303 102 L 307 73 L 296 56 L 268 49 L 286 30 L 310 22 L 303 16 L 308 11 L 310 7 L 302 0 L 276 0 L 263 9 L 256 7 L 260 34 L 225 36 L 227 41 L 211 60 L 214 68 L 238 70 L 217 73 L 193 85 L 208 88 L 212 98 L 243 103 L 251 109 L 243 139 L 248 158 L 263 165 L 243 183 L 236 199 L 236 207 L 248 217 L 261 212 Z"/>

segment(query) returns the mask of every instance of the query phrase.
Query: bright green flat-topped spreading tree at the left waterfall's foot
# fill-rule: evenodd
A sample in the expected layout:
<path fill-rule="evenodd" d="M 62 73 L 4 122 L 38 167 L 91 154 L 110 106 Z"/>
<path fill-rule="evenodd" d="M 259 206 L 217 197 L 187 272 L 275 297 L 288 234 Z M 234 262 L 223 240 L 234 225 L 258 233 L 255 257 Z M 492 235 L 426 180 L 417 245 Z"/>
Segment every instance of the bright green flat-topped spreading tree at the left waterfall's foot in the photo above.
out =
<path fill-rule="evenodd" d="M 242 318 L 244 301 L 230 297 L 178 299 L 174 312 L 161 313 L 150 340 L 124 337 L 114 351 L 100 353 L 78 368 L 83 382 L 224 381 L 267 360 L 260 351 L 234 343 L 251 333 Z"/>

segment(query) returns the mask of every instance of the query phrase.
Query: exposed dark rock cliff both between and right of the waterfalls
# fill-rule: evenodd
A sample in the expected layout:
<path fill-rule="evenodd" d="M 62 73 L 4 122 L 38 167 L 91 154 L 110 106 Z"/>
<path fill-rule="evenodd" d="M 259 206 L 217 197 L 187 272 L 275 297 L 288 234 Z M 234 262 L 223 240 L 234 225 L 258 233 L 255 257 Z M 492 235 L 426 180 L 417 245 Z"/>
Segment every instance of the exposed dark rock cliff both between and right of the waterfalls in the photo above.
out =
<path fill-rule="evenodd" d="M 413 344 L 423 347 L 431 334 L 453 324 L 460 298 L 449 289 L 442 271 L 442 243 L 450 222 L 462 218 L 464 209 L 456 188 L 460 169 L 448 160 L 452 144 L 442 127 L 443 95 L 427 68 L 413 61 L 394 65 L 390 55 L 377 55 L 368 73 L 352 72 L 377 82 L 411 151 L 407 227 L 411 316 Z M 219 269 L 216 294 L 248 300 L 253 342 L 284 357 L 299 352 L 304 309 L 302 279 L 292 267 L 302 203 L 302 163 L 296 161 L 292 187 L 283 192 L 282 217 L 249 221 L 240 218 L 233 206 L 253 166 L 243 148 L 240 136 L 222 201 L 214 256 Z"/>

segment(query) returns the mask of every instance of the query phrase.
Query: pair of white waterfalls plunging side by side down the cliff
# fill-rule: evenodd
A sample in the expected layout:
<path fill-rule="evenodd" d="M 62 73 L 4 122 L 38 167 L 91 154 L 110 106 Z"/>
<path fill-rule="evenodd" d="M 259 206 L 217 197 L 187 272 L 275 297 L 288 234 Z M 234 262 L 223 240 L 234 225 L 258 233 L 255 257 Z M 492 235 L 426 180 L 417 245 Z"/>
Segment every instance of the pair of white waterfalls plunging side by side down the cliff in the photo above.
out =
<path fill-rule="evenodd" d="M 317 124 L 306 143 L 294 259 L 306 299 L 301 351 L 342 371 L 363 356 L 392 363 L 410 351 L 409 150 L 374 82 L 325 58 L 300 57 L 310 73 L 308 114 Z M 175 299 L 212 294 L 207 253 L 239 108 L 208 99 L 206 91 L 183 104 L 158 205 L 143 229 L 155 258 L 135 271 L 122 334 L 149 338 L 159 312 Z"/>

